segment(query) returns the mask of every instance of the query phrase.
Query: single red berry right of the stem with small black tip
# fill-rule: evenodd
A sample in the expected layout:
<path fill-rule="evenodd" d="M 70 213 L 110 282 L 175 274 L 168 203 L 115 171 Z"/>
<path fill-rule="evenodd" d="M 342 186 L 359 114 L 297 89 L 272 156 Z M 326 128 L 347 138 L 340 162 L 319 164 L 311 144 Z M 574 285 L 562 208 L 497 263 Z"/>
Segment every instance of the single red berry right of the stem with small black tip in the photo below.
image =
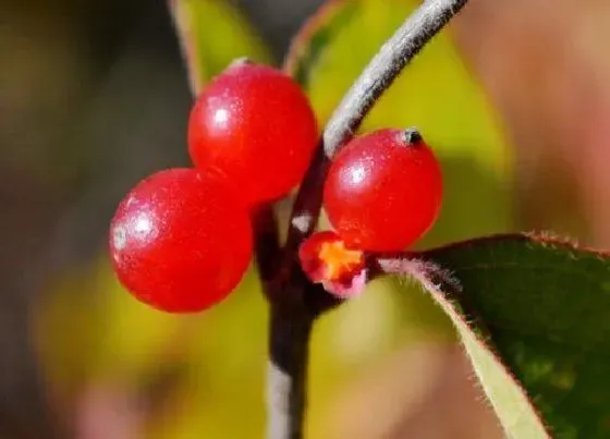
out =
<path fill-rule="evenodd" d="M 338 153 L 325 183 L 330 222 L 352 247 L 371 252 L 412 245 L 435 222 L 442 175 L 414 131 L 380 130 Z"/>

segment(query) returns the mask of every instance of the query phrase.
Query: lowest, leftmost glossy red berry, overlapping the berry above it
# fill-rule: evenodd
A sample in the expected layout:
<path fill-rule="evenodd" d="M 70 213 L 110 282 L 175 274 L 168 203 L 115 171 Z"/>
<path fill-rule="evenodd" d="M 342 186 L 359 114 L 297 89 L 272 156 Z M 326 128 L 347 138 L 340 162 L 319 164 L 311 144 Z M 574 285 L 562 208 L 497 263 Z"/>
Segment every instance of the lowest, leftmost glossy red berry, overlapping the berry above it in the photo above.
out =
<path fill-rule="evenodd" d="M 171 313 L 198 312 L 229 295 L 247 269 L 249 218 L 220 174 L 169 169 L 121 202 L 110 253 L 136 298 Z"/>

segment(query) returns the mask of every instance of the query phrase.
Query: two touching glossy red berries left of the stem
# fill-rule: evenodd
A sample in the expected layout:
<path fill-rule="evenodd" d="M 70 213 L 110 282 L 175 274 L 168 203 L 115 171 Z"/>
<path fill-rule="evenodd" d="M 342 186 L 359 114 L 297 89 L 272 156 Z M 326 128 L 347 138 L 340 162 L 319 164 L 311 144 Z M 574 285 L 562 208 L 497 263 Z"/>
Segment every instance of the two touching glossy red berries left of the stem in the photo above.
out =
<path fill-rule="evenodd" d="M 317 137 L 307 97 L 289 76 L 249 62 L 229 66 L 191 112 L 195 169 L 155 173 L 119 205 L 110 253 L 121 283 L 172 313 L 227 297 L 252 258 L 252 210 L 301 181 Z"/>

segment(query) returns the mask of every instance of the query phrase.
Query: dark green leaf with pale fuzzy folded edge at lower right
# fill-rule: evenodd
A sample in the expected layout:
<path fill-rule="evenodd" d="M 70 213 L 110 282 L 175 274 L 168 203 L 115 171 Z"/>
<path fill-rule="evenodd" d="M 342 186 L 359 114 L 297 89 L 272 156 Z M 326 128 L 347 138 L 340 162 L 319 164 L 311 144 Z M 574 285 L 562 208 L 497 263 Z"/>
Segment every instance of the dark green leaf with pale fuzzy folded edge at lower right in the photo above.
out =
<path fill-rule="evenodd" d="M 419 280 L 451 317 L 509 437 L 548 437 L 526 395 L 556 438 L 610 437 L 610 255 L 522 234 L 419 256 L 393 271 Z"/>

